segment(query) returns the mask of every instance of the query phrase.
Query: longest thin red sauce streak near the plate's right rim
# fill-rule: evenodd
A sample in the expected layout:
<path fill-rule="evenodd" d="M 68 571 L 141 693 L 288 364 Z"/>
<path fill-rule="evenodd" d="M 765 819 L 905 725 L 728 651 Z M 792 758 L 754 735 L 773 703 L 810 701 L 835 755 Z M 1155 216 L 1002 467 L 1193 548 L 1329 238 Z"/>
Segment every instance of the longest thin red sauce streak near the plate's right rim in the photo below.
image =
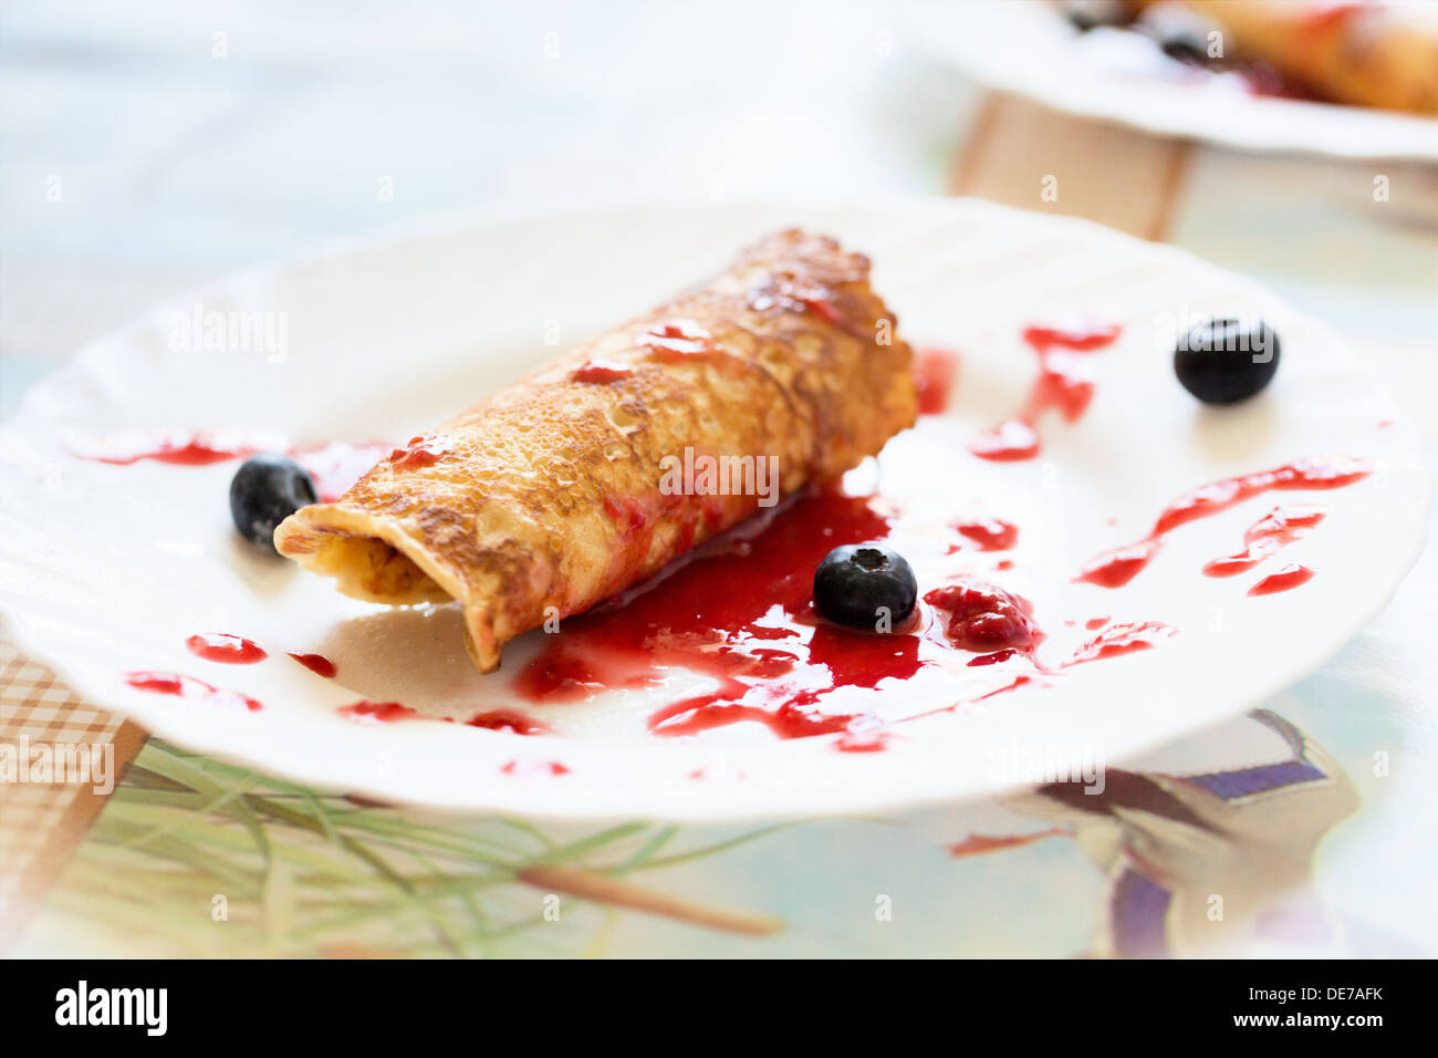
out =
<path fill-rule="evenodd" d="M 1153 523 L 1149 535 L 1097 556 L 1078 571 L 1077 580 L 1100 587 L 1122 587 L 1149 564 L 1162 547 L 1163 537 L 1179 525 L 1227 511 L 1261 492 L 1343 488 L 1362 481 L 1370 472 L 1369 464 L 1362 459 L 1319 455 L 1296 459 L 1271 471 L 1201 485 L 1169 504 Z"/>

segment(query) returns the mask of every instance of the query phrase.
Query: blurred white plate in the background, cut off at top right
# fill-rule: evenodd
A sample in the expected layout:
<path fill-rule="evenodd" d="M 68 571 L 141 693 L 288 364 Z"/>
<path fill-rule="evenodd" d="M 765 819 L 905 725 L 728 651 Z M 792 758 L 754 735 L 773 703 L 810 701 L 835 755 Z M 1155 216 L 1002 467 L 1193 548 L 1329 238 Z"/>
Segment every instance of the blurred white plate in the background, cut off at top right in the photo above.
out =
<path fill-rule="evenodd" d="M 1438 160 L 1438 121 L 1251 94 L 1137 33 L 1078 33 L 1053 4 L 966 0 L 923 9 L 925 40 L 969 76 L 1083 118 L 1245 151 Z"/>

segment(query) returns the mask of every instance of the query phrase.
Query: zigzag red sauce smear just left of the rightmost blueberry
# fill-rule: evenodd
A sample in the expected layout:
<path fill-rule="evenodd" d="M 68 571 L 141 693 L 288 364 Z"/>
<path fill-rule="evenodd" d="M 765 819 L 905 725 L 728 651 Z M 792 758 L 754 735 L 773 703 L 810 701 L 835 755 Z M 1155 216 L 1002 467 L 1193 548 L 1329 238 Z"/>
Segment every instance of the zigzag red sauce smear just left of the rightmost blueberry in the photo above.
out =
<path fill-rule="evenodd" d="M 1093 400 L 1093 377 L 1087 357 L 1122 334 L 1117 324 L 1090 327 L 1025 327 L 1024 341 L 1038 354 L 1038 376 L 1018 413 L 969 442 L 981 459 L 1012 462 L 1032 459 L 1041 449 L 1038 419 L 1058 412 L 1067 422 L 1078 422 Z"/>

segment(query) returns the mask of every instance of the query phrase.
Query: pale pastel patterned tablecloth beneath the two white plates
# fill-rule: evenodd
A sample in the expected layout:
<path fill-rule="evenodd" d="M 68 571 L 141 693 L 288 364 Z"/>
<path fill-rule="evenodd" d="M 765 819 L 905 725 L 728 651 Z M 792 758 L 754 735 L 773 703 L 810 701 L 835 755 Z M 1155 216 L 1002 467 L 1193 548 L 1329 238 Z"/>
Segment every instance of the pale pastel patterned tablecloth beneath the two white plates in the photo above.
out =
<path fill-rule="evenodd" d="M 1438 465 L 1438 170 L 995 102 L 929 55 L 912 13 L 10 3 L 0 413 L 155 298 L 436 212 L 958 189 L 1260 278 L 1350 338 Z M 1090 194 L 1050 206 L 1015 174 L 1060 144 Z M 1135 219 L 1145 196 L 1162 209 Z M 1320 671 L 1110 769 L 1103 803 L 1077 808 L 1050 790 L 779 829 L 436 822 L 151 741 L 12 951 L 1438 954 L 1435 600 L 1429 553 Z M 3 661 L 7 705 L 33 701 L 43 674 Z M 1291 761 L 1301 782 L 1280 774 Z M 1238 797 L 1173 779 L 1254 766 Z"/>

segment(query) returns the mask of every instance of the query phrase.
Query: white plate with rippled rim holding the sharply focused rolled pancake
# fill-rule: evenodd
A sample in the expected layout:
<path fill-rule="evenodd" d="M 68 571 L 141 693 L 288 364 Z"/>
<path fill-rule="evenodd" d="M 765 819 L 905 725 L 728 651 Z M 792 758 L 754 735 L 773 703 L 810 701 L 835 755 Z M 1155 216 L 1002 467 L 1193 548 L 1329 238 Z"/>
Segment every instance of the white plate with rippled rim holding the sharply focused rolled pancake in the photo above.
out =
<path fill-rule="evenodd" d="M 838 753 L 833 737 L 778 741 L 755 725 L 660 740 L 644 731 L 653 707 L 644 698 L 541 707 L 568 737 L 431 721 L 364 725 L 336 708 L 398 698 L 463 718 L 508 702 L 508 674 L 538 635 L 508 648 L 505 672 L 482 678 L 450 609 L 357 603 L 237 541 L 226 507 L 233 464 L 112 466 L 68 451 L 76 438 L 155 426 L 403 439 L 552 356 L 544 338 L 555 328 L 569 344 L 621 322 L 787 225 L 870 253 L 876 288 L 910 341 L 963 353 L 948 415 L 884 452 L 884 491 L 917 489 L 945 514 L 1021 525 L 1014 569 L 986 576 L 1032 599 L 1050 659 L 1089 635 L 1083 620 L 1099 615 L 1162 620 L 1178 629 L 1172 639 L 1074 668 L 1053 687 L 902 724 L 883 753 Z M 275 320 L 288 327 L 288 356 L 187 351 L 175 325 L 196 305 L 283 314 Z M 1270 390 L 1228 412 L 1183 393 L 1168 353 L 1176 322 L 1215 312 L 1261 312 L 1284 343 Z M 1034 377 L 1020 328 L 1070 314 L 1125 325 L 1110 348 L 1090 354 L 1097 396 L 1087 416 L 1073 426 L 1045 420 L 1040 459 L 971 456 L 965 439 L 1011 412 Z M 935 458 L 923 438 L 948 448 Z M 1073 583 L 1089 557 L 1142 535 L 1178 494 L 1324 452 L 1370 459 L 1375 472 L 1343 489 L 1264 495 L 1188 525 L 1120 590 Z M 1035 749 L 1089 747 L 1116 760 L 1274 694 L 1360 628 L 1416 557 L 1429 492 L 1418 452 L 1389 397 L 1323 327 L 1244 279 L 1084 222 L 963 200 L 469 219 L 234 276 L 85 348 L 32 390 L 0 433 L 0 574 L 16 638 L 83 697 L 183 746 L 306 783 L 565 818 L 867 812 L 1024 782 L 1034 776 L 1022 754 Z M 1311 583 L 1250 599 L 1254 577 L 1201 576 L 1204 561 L 1232 551 L 1278 501 L 1330 510 L 1260 570 L 1301 561 L 1317 570 Z M 991 571 L 998 557 L 965 551 L 953 561 Z M 272 656 L 206 662 L 184 646 L 197 632 L 244 635 Z M 285 651 L 322 651 L 339 678 L 321 679 Z M 135 669 L 184 672 L 265 708 L 145 694 L 124 681 Z M 997 675 L 936 669 L 881 685 L 867 705 L 916 713 L 969 698 L 982 679 Z M 506 774 L 512 760 L 559 761 L 568 774 Z"/>

